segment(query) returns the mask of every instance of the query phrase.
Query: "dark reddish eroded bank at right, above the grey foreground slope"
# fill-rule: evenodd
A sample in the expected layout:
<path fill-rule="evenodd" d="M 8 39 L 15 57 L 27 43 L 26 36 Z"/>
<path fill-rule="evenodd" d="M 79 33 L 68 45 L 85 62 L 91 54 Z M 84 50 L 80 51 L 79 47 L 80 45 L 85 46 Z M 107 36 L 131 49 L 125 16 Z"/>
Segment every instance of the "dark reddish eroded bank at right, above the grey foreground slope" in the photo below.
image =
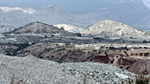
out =
<path fill-rule="evenodd" d="M 140 73 L 140 74 L 150 74 L 150 59 L 141 59 L 134 57 L 120 58 L 118 60 L 118 65 L 120 68 L 126 68 L 130 72 Z"/>

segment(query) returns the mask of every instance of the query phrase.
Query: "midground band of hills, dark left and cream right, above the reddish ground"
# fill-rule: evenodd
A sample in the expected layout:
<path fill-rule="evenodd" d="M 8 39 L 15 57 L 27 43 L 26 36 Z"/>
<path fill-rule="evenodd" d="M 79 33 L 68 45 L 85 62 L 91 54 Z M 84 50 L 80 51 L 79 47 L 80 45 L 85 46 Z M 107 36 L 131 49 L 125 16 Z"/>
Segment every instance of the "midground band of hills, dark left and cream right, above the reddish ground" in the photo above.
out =
<path fill-rule="evenodd" d="M 9 30 L 1 35 L 3 44 L 51 43 L 98 43 L 98 42 L 149 42 L 148 33 L 138 31 L 123 23 L 100 21 L 84 30 L 71 25 L 48 25 L 42 22 L 31 22 L 23 27 Z M 7 29 L 7 28 L 6 28 Z M 70 31 L 66 31 L 66 30 Z M 92 35 L 93 34 L 93 35 Z M 142 36 L 145 36 L 144 38 Z M 86 37 L 93 36 L 93 37 Z M 99 39 L 102 38 L 102 39 Z"/>

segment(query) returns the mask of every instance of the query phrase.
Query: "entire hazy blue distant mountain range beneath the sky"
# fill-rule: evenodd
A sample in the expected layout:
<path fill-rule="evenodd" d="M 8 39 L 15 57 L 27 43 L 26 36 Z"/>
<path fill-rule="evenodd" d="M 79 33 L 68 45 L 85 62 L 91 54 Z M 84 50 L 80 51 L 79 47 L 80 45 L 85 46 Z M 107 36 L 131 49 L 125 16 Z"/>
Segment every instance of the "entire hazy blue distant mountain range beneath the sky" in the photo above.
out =
<path fill-rule="evenodd" d="M 83 3 L 83 1 L 79 2 Z M 95 5 L 89 5 L 87 8 L 68 8 L 70 10 L 75 8 L 76 11 L 79 11 L 79 14 L 77 14 L 78 12 L 66 13 L 60 7 L 54 5 L 38 8 L 2 6 L 0 7 L 0 23 L 18 27 L 30 22 L 40 21 L 51 25 L 68 24 L 87 28 L 100 20 L 114 20 L 139 30 L 150 29 L 150 9 L 141 0 L 97 0 L 93 4 Z"/>

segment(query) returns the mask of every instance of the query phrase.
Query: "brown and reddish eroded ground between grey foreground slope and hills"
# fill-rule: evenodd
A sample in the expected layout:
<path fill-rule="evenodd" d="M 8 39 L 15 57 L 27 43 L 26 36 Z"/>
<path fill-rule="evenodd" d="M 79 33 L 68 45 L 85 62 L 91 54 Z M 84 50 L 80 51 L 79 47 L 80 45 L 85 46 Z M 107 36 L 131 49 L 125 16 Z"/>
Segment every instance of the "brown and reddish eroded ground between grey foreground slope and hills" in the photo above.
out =
<path fill-rule="evenodd" d="M 33 45 L 1 45 L 1 53 L 25 57 L 33 55 L 55 62 L 98 62 L 128 70 L 150 74 L 149 44 L 66 44 L 37 43 Z"/>

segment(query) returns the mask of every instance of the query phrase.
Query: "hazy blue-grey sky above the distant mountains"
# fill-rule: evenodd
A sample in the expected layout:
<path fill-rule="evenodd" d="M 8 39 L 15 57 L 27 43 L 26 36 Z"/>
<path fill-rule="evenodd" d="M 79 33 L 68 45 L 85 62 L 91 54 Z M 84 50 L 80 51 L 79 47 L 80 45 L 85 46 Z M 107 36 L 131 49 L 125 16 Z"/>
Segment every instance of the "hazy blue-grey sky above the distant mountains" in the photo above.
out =
<path fill-rule="evenodd" d="M 110 3 L 118 0 L 108 0 Z M 41 7 L 46 5 L 56 5 L 66 12 L 89 12 L 109 3 L 105 0 L 0 0 L 0 6 L 20 6 L 20 7 Z M 150 8 L 150 0 L 143 0 L 144 4 Z M 93 5 L 94 4 L 94 5 Z"/>

